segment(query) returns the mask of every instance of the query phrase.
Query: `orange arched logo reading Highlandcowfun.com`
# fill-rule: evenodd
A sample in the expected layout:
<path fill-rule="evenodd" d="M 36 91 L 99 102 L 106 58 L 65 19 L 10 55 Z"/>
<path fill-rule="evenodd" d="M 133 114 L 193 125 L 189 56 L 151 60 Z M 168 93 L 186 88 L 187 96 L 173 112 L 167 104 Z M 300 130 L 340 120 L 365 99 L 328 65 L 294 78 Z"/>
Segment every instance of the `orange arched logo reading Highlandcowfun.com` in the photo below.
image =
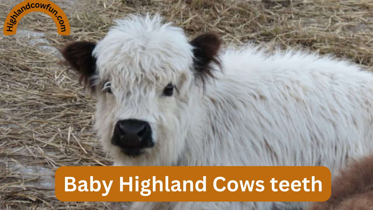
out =
<path fill-rule="evenodd" d="M 60 35 L 70 34 L 69 20 L 62 9 L 55 3 L 48 0 L 26 0 L 17 4 L 8 14 L 4 23 L 4 35 L 14 35 L 17 31 L 17 24 L 23 16 L 30 12 L 44 12 L 49 15 L 57 26 L 57 33 Z"/>

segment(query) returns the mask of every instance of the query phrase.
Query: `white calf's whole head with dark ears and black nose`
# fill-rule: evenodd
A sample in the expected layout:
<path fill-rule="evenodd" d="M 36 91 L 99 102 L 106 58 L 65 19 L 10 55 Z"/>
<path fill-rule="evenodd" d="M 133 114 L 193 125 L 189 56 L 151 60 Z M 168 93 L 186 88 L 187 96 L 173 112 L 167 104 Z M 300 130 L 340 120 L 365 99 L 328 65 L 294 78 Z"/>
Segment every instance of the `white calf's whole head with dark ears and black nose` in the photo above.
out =
<path fill-rule="evenodd" d="M 98 43 L 74 42 L 62 54 L 97 96 L 95 129 L 119 164 L 170 165 L 220 44 L 214 33 L 189 42 L 158 15 L 130 15 Z"/>

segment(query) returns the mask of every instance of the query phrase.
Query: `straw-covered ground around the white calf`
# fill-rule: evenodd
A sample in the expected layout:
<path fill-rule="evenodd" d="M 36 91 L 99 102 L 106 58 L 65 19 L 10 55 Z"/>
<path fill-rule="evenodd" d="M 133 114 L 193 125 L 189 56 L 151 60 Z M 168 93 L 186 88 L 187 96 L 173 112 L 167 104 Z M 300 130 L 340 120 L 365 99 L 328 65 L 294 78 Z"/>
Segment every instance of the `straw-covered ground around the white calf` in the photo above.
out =
<path fill-rule="evenodd" d="M 61 202 L 54 195 L 60 166 L 106 166 L 110 157 L 92 129 L 94 98 L 66 72 L 58 49 L 97 41 L 112 20 L 159 12 L 192 38 L 217 31 L 225 45 L 332 53 L 373 70 L 373 0 L 52 0 L 71 34 L 33 12 L 17 33 L 0 35 L 0 209 L 119 209 L 127 203 Z M 0 17 L 21 0 L 0 0 Z M 2 26 L 3 22 L 1 22 Z"/>

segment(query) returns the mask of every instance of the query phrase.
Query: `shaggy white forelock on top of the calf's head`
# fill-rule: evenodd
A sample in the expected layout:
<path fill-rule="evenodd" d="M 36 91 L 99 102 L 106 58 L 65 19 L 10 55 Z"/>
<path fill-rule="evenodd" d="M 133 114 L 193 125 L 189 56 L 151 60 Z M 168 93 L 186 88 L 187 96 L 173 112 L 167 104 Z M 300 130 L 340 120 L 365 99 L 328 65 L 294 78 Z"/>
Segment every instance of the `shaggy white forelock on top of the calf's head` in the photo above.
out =
<path fill-rule="evenodd" d="M 98 77 L 131 91 L 144 82 L 164 86 L 187 73 L 192 46 L 181 28 L 162 22 L 159 15 L 129 15 L 117 20 L 93 52 Z"/>

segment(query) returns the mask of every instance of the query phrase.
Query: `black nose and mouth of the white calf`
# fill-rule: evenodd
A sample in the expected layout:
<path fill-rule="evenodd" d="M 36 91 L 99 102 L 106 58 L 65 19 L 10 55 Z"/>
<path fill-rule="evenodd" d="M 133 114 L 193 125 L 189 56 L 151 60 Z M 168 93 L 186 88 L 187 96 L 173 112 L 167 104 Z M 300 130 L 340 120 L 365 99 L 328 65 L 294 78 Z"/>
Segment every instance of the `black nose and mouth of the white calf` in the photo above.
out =
<path fill-rule="evenodd" d="M 126 154 L 132 156 L 141 154 L 142 149 L 154 146 L 150 124 L 136 119 L 117 121 L 112 143 L 119 146 Z"/>

